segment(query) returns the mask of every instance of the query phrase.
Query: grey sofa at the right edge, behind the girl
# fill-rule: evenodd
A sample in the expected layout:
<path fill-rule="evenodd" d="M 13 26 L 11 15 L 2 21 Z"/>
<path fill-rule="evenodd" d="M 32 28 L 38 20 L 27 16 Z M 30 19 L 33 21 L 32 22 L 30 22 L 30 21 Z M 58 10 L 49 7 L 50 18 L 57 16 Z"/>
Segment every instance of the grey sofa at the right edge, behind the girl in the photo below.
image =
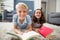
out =
<path fill-rule="evenodd" d="M 60 13 L 59 12 L 51 12 L 51 13 L 49 13 L 47 21 L 49 23 L 52 23 L 52 24 L 60 25 Z"/>

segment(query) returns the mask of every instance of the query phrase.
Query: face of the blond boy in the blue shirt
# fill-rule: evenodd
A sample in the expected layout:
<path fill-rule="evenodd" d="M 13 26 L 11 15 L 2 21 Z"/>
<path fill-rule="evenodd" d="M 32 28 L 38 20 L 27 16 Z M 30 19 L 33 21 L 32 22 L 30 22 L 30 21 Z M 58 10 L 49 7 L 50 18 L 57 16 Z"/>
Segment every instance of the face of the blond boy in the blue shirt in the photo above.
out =
<path fill-rule="evenodd" d="M 24 19 L 27 15 L 27 9 L 24 6 L 19 6 L 16 11 L 20 18 Z"/>

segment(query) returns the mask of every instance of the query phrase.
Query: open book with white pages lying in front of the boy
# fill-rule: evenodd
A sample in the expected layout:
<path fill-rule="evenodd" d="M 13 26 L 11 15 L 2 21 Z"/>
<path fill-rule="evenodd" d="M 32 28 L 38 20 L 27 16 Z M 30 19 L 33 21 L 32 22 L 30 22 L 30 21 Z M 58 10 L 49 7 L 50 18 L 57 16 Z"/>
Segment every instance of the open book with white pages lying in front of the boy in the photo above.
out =
<path fill-rule="evenodd" d="M 14 36 L 20 38 L 19 40 L 35 40 L 35 39 L 40 40 L 42 37 L 39 33 L 36 33 L 34 31 L 24 33 L 23 35 L 12 34 L 12 33 L 8 33 L 8 34 L 14 35 Z"/>

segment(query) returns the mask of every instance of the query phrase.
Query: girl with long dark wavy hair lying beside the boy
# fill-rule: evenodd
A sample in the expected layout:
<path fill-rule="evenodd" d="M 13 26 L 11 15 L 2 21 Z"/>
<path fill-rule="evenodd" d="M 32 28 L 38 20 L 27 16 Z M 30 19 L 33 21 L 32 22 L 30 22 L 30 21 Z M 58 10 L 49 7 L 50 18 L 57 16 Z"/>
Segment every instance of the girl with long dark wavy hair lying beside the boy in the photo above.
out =
<path fill-rule="evenodd" d="M 38 32 L 38 29 L 45 23 L 45 18 L 43 16 L 41 9 L 36 9 L 32 17 L 33 30 Z"/>

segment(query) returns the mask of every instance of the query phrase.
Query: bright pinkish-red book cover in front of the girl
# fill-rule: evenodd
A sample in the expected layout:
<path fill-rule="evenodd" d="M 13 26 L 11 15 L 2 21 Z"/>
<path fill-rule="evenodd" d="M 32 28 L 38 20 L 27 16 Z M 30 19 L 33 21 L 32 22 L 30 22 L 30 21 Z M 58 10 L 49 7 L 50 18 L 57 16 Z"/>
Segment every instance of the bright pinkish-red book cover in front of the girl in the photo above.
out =
<path fill-rule="evenodd" d="M 46 27 L 46 26 L 42 26 L 39 29 L 39 33 L 46 38 L 47 35 L 49 35 L 51 32 L 53 31 L 52 28 Z"/>

